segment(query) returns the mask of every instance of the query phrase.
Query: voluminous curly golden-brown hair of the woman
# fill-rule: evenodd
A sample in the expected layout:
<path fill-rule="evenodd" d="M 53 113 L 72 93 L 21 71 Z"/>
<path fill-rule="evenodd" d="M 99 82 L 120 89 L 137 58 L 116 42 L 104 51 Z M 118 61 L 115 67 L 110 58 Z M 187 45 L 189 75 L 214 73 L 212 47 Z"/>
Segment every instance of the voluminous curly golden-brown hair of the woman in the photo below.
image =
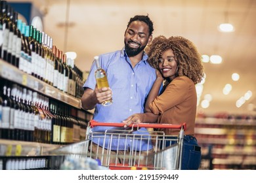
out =
<path fill-rule="evenodd" d="M 168 49 L 173 50 L 179 66 L 177 76 L 187 76 L 194 84 L 200 83 L 204 76 L 201 55 L 193 42 L 184 37 L 166 38 L 163 35 L 156 37 L 145 48 L 145 52 L 148 54 L 148 63 L 158 69 L 158 58 Z"/>

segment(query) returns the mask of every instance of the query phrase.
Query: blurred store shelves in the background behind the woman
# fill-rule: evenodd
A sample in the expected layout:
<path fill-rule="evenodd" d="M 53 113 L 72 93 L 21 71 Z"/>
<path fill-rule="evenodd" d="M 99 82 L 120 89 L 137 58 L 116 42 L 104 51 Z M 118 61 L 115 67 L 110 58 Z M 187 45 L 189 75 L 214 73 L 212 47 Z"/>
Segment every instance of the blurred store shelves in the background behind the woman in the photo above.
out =
<path fill-rule="evenodd" d="M 200 169 L 256 169 L 256 120 L 198 118 Z"/>

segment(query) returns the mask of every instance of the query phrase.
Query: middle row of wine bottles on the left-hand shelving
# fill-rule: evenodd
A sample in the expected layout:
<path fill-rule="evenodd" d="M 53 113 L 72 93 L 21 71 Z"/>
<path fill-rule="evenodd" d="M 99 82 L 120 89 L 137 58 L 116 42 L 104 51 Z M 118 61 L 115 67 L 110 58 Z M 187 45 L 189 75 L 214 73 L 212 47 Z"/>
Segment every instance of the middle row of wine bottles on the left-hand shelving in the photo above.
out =
<path fill-rule="evenodd" d="M 70 144 L 85 139 L 92 114 L 0 78 L 0 139 Z"/>

